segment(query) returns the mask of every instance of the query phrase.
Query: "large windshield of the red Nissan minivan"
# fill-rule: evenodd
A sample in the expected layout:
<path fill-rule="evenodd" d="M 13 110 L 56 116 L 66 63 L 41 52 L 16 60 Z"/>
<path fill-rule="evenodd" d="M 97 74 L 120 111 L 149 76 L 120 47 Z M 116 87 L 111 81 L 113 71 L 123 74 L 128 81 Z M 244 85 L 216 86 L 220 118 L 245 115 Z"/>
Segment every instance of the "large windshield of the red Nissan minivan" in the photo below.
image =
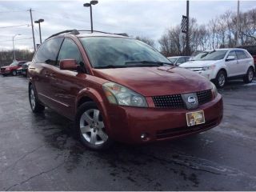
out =
<path fill-rule="evenodd" d="M 157 50 L 131 38 L 80 38 L 94 68 L 171 64 Z"/>

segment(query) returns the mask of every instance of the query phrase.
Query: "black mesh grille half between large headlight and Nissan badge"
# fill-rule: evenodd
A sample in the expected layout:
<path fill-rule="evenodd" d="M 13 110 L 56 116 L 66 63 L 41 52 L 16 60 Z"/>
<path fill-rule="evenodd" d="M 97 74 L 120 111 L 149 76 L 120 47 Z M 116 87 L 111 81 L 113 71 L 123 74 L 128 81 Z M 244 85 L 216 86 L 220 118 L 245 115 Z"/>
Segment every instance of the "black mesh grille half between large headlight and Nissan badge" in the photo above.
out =
<path fill-rule="evenodd" d="M 153 97 L 154 106 L 158 108 L 184 108 L 184 102 L 181 94 L 172 94 L 166 96 Z"/>

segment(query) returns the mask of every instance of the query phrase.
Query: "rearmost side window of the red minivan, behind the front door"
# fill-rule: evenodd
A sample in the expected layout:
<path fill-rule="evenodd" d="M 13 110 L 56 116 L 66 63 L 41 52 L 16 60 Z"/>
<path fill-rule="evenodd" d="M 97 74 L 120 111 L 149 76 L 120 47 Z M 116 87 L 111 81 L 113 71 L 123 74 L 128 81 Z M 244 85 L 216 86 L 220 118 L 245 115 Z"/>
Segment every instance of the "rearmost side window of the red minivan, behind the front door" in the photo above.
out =
<path fill-rule="evenodd" d="M 43 42 L 34 57 L 34 62 L 41 62 L 56 66 L 58 50 L 62 45 L 62 41 L 63 38 L 51 38 L 50 40 Z"/>

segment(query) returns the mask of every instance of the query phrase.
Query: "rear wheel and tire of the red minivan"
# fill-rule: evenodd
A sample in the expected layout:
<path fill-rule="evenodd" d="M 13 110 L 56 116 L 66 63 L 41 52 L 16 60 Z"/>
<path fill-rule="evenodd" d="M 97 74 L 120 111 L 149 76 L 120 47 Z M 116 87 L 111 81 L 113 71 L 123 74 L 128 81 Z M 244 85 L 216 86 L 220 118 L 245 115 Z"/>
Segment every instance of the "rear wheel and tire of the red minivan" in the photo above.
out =
<path fill-rule="evenodd" d="M 34 86 L 29 86 L 29 98 L 30 98 L 30 107 L 33 113 L 42 113 L 43 110 L 45 110 L 45 106 L 42 106 L 42 104 L 38 101 L 38 96 L 34 90 Z"/>

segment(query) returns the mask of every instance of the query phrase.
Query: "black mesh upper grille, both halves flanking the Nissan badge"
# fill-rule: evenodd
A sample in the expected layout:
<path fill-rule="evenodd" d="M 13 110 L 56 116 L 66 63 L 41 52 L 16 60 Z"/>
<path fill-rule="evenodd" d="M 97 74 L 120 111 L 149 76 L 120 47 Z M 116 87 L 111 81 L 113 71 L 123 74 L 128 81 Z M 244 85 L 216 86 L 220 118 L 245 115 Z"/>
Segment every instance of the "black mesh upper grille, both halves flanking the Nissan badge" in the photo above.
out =
<path fill-rule="evenodd" d="M 198 105 L 210 102 L 212 99 L 211 90 L 202 90 L 196 93 L 198 96 Z M 154 106 L 157 108 L 185 109 L 186 104 L 182 100 L 182 94 L 172 94 L 164 96 L 154 96 Z"/>

